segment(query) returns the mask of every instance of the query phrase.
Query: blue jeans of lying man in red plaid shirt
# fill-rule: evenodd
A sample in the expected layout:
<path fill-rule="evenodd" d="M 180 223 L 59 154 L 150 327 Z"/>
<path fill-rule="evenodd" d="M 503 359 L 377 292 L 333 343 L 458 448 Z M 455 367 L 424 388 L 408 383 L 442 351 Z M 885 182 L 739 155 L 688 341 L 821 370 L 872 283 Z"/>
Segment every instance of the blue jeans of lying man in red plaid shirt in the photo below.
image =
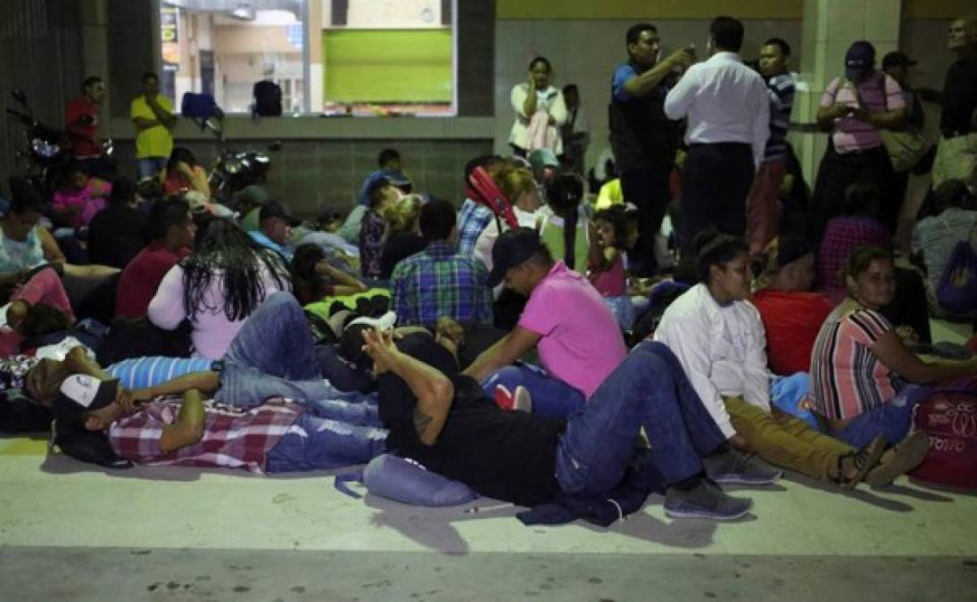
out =
<path fill-rule="evenodd" d="M 329 470 L 364 464 L 384 452 L 387 431 L 354 426 L 310 415 L 299 415 L 291 432 L 269 450 L 265 471 Z"/>

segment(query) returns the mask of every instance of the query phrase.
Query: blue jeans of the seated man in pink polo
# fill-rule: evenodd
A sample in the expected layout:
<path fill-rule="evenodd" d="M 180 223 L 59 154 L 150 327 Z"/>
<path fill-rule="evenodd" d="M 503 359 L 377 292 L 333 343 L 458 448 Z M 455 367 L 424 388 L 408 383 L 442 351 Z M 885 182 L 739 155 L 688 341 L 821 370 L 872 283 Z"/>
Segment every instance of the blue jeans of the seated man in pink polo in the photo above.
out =
<path fill-rule="evenodd" d="M 532 396 L 532 413 L 547 418 L 566 418 L 587 404 L 579 389 L 529 364 L 505 366 L 489 374 L 482 383 L 488 397 L 495 395 L 496 385 L 505 386 L 510 393 L 523 385 Z"/>

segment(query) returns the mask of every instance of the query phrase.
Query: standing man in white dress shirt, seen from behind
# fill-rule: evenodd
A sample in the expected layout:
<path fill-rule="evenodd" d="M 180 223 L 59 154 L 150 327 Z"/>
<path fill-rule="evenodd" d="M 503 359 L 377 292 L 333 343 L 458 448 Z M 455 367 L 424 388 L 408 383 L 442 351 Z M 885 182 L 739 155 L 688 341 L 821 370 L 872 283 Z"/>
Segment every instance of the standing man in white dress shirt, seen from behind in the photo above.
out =
<path fill-rule="evenodd" d="M 679 234 L 683 249 L 713 226 L 742 237 L 746 194 L 770 134 L 767 88 L 743 64 L 743 23 L 717 17 L 709 25 L 709 59 L 689 67 L 665 97 L 670 119 L 689 119 L 682 172 Z"/>

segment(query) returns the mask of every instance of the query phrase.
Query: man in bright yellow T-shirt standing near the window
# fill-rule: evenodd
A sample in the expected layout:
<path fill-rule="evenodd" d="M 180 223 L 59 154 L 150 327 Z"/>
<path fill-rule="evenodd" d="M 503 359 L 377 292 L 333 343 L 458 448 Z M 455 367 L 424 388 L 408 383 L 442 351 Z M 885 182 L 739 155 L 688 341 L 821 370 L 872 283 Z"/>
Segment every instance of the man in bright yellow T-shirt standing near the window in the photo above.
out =
<path fill-rule="evenodd" d="M 173 102 L 159 94 L 159 77 L 143 75 L 143 94 L 132 101 L 132 122 L 136 125 L 136 163 L 140 178 L 157 175 L 173 151 L 173 127 L 177 118 Z"/>

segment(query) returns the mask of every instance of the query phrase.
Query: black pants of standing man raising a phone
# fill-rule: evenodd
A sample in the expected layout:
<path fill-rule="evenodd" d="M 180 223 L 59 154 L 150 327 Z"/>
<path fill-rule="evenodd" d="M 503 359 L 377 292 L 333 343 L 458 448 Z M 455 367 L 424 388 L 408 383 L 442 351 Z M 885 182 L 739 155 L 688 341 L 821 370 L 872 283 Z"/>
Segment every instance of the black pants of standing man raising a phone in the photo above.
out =
<path fill-rule="evenodd" d="M 629 253 L 640 277 L 655 275 L 655 235 L 661 229 L 661 219 L 671 194 L 668 175 L 671 163 L 642 169 L 624 169 L 620 173 L 620 191 L 624 200 L 638 207 L 638 242 Z"/>

